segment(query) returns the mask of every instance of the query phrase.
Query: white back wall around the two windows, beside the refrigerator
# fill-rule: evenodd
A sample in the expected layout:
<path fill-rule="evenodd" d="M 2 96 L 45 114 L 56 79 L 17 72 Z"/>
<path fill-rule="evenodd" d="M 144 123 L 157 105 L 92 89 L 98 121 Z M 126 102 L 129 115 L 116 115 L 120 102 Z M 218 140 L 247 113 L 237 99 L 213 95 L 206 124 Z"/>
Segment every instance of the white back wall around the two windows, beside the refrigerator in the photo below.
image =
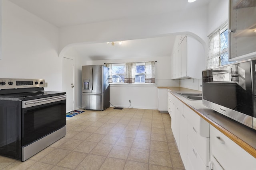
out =
<path fill-rule="evenodd" d="M 157 86 L 180 86 L 179 80 L 170 80 L 170 56 L 151 58 L 132 58 L 124 60 L 87 61 L 84 65 L 95 65 L 104 63 L 126 63 L 126 62 L 156 62 L 156 84 L 122 84 L 110 85 L 110 103 L 117 107 L 130 106 L 133 108 L 158 109 Z M 81 87 L 82 88 L 82 87 Z"/>

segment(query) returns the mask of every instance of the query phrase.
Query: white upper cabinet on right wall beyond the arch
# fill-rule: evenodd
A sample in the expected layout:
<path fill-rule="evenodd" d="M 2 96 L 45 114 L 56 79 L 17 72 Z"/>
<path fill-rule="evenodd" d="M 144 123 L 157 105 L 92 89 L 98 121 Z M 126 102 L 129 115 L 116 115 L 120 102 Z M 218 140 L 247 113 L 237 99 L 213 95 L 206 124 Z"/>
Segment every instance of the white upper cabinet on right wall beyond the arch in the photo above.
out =
<path fill-rule="evenodd" d="M 171 79 L 202 78 L 205 52 L 202 44 L 188 35 L 177 35 L 171 56 Z"/>

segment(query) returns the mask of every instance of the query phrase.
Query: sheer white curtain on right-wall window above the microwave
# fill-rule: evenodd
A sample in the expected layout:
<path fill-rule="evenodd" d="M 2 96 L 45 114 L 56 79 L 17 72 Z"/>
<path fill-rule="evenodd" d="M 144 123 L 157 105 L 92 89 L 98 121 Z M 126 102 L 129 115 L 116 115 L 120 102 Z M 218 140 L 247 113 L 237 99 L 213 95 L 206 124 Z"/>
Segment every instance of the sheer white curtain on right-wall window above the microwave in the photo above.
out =
<path fill-rule="evenodd" d="M 209 37 L 207 56 L 207 68 L 220 66 L 220 31 L 216 31 Z"/>

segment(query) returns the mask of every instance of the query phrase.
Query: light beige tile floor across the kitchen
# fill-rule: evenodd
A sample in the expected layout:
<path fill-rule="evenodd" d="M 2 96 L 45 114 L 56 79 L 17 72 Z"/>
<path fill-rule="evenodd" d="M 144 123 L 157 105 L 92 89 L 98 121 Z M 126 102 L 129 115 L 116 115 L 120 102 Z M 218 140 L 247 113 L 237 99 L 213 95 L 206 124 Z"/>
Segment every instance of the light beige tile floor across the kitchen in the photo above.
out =
<path fill-rule="evenodd" d="M 25 162 L 0 156 L 1 170 L 184 170 L 168 113 L 86 110 L 66 136 Z"/>

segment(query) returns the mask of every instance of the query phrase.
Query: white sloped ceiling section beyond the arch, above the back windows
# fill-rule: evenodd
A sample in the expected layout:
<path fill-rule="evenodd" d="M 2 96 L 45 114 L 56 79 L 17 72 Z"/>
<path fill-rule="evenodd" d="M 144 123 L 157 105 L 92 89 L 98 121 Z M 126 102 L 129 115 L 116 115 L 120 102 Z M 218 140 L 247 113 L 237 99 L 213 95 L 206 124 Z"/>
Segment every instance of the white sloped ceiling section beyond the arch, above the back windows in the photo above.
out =
<path fill-rule="evenodd" d="M 90 60 L 166 57 L 171 55 L 174 38 L 174 35 L 170 35 L 122 41 L 121 45 L 118 42 L 112 45 L 110 42 L 76 45 L 73 48 Z"/>

